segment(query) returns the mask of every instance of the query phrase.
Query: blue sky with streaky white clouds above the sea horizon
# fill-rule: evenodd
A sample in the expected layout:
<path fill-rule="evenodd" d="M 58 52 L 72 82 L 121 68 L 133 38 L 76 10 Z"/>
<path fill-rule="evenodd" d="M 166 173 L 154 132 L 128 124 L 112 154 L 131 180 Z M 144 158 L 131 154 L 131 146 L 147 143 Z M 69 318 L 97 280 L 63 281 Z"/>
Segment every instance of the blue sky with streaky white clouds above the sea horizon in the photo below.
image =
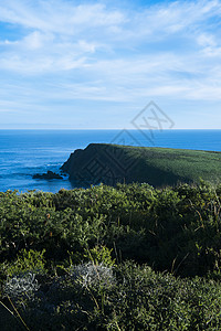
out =
<path fill-rule="evenodd" d="M 0 128 L 221 128 L 221 1 L 0 1 Z"/>

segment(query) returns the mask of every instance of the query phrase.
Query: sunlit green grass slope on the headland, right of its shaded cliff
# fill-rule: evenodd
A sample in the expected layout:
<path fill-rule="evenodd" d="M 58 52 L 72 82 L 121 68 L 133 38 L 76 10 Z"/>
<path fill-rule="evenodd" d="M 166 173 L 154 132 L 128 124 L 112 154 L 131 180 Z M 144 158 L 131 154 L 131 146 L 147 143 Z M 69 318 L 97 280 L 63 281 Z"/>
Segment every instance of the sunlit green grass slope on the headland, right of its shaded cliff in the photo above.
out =
<path fill-rule="evenodd" d="M 133 177 L 151 185 L 175 184 L 199 179 L 221 180 L 221 153 L 170 148 L 116 147 L 135 161 Z M 136 163 L 137 162 L 137 163 Z M 138 180 L 138 181 L 140 181 Z"/>

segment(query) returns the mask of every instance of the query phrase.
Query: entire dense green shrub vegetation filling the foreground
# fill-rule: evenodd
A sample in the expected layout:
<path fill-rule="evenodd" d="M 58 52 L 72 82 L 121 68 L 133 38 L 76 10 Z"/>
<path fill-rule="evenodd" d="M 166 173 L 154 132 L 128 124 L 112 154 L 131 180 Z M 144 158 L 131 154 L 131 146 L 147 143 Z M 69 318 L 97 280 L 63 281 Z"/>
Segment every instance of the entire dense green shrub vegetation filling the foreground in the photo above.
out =
<path fill-rule="evenodd" d="M 220 330 L 221 185 L 0 193 L 1 330 Z"/>

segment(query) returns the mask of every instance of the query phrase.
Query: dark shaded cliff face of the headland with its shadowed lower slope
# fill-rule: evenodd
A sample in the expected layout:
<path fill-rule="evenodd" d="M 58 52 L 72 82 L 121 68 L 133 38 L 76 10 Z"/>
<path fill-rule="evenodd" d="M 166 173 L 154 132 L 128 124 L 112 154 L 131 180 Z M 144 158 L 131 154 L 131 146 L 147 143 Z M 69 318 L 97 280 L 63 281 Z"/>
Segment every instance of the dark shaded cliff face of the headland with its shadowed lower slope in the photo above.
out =
<path fill-rule="evenodd" d="M 83 186 L 101 182 L 108 185 L 147 182 L 161 186 L 183 181 L 182 177 L 152 167 L 148 158 L 151 158 L 151 153 L 147 156 L 145 148 L 91 143 L 84 150 L 75 150 L 62 170 Z"/>

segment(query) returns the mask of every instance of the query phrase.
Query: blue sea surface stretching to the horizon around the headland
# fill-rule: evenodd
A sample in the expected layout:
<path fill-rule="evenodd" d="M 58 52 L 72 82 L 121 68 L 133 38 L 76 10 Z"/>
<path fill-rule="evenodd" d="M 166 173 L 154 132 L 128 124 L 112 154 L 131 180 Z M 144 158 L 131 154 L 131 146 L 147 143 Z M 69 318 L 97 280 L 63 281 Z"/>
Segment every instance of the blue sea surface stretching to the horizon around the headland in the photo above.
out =
<path fill-rule="evenodd" d="M 32 175 L 59 172 L 71 152 L 91 142 L 221 151 L 221 130 L 0 130 L 0 191 L 74 189 L 67 177 Z"/>

